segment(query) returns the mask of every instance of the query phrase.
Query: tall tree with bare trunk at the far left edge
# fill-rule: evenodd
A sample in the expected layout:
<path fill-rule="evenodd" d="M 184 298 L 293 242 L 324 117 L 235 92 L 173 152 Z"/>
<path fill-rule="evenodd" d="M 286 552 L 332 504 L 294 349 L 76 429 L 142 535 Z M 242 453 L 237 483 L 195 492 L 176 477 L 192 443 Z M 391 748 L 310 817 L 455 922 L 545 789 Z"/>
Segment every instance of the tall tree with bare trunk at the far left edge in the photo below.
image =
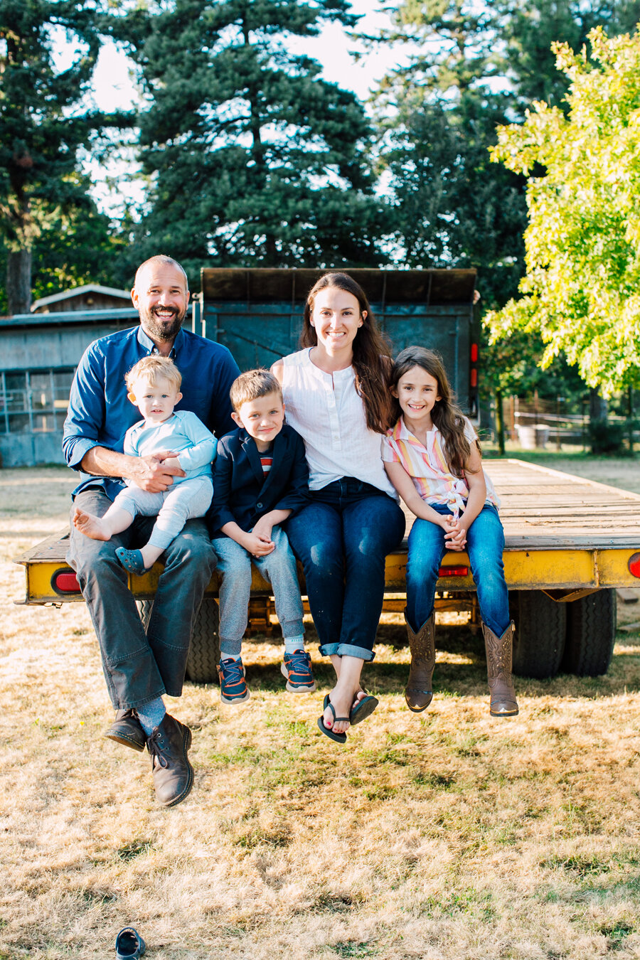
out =
<path fill-rule="evenodd" d="M 99 3 L 0 4 L 0 241 L 12 313 L 29 309 L 38 238 L 60 217 L 73 222 L 88 204 L 78 151 L 107 119 L 83 101 L 100 48 Z M 59 65 L 54 47 L 62 36 Z"/>

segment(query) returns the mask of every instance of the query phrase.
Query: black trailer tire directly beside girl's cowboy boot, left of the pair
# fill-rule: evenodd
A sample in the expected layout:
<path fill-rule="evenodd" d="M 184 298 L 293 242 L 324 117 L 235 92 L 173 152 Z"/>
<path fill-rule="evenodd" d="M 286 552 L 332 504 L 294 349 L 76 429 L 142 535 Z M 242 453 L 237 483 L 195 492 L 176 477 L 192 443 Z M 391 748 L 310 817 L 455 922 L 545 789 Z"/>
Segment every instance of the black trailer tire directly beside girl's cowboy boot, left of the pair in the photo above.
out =
<path fill-rule="evenodd" d="M 564 652 L 566 605 L 542 590 L 511 590 L 509 599 L 515 621 L 513 673 L 533 680 L 555 677 Z"/>

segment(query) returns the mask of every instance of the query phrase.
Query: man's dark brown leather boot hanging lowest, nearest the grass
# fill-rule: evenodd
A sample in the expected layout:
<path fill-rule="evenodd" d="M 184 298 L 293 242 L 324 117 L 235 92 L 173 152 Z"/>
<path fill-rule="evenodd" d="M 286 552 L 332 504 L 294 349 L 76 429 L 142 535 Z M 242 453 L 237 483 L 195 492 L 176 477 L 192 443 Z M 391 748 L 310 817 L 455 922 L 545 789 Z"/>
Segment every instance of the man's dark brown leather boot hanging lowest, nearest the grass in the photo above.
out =
<path fill-rule="evenodd" d="M 168 713 L 147 737 L 155 797 L 162 806 L 179 804 L 193 786 L 193 767 L 187 756 L 190 746 L 191 731 Z"/>

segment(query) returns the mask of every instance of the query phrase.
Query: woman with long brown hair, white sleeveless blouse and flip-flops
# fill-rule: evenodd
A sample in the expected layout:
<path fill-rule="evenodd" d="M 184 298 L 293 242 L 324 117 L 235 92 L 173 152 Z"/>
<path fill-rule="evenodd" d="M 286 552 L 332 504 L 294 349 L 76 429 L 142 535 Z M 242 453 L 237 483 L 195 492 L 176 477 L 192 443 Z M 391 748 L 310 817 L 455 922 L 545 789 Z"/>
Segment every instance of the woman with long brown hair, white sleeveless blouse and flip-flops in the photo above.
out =
<path fill-rule="evenodd" d="M 273 365 L 310 473 L 311 502 L 288 521 L 287 535 L 304 568 L 320 653 L 336 670 L 320 730 L 344 743 L 349 723 L 377 706 L 360 675 L 374 656 L 385 557 L 405 528 L 380 456 L 392 417 L 391 355 L 365 292 L 342 273 L 321 276 L 311 290 L 300 343 Z"/>

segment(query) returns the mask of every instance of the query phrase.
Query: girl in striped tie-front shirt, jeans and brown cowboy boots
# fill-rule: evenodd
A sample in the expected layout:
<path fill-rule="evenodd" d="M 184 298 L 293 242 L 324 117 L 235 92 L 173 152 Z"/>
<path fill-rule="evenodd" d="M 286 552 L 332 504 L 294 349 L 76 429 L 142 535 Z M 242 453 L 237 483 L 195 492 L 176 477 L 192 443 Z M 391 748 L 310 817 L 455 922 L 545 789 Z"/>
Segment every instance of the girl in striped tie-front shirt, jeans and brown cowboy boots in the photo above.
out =
<path fill-rule="evenodd" d="M 498 500 L 473 426 L 456 406 L 439 355 L 407 347 L 391 369 L 397 422 L 383 444 L 385 468 L 415 514 L 409 534 L 405 619 L 411 669 L 405 699 L 426 709 L 436 662 L 434 601 L 446 550 L 464 550 L 478 590 L 492 716 L 518 712 L 511 679 L 513 623 Z"/>

